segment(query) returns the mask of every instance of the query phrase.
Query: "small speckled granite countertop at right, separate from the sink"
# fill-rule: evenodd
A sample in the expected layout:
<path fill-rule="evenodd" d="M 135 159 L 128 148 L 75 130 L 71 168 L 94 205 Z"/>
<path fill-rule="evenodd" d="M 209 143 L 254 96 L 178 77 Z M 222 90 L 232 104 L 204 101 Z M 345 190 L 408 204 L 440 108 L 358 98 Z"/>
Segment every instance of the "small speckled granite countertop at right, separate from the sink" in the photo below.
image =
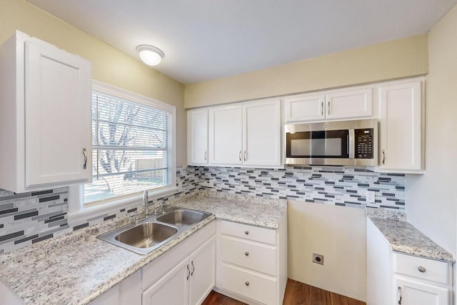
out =
<path fill-rule="evenodd" d="M 406 221 L 404 214 L 367 208 L 367 216 L 386 237 L 392 251 L 426 259 L 455 262 L 452 254 Z"/>

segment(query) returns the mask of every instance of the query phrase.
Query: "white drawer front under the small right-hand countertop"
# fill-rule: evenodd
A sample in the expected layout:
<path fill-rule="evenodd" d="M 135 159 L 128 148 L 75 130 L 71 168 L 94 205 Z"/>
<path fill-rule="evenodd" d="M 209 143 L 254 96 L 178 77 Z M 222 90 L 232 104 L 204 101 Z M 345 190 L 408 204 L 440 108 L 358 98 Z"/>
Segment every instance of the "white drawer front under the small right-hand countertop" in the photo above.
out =
<path fill-rule="evenodd" d="M 448 264 L 444 261 L 434 261 L 433 259 L 403 254 L 396 254 L 395 261 L 394 269 L 398 274 L 448 284 Z"/>

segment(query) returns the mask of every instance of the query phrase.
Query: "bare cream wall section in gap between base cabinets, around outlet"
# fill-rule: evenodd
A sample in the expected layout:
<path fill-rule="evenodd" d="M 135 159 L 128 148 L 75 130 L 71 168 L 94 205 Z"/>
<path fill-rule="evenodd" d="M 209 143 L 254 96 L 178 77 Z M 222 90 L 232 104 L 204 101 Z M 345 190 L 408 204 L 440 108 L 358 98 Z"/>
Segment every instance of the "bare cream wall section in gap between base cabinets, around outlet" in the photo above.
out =
<path fill-rule="evenodd" d="M 323 266 L 312 253 L 323 254 Z M 365 301 L 365 210 L 288 201 L 288 277 Z"/>

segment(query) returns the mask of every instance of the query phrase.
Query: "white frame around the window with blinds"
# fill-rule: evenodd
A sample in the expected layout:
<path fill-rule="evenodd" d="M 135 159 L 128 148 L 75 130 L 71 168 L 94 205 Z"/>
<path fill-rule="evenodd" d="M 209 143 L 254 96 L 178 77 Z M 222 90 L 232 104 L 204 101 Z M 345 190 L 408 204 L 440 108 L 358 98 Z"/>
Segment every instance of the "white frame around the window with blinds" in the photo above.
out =
<path fill-rule="evenodd" d="M 154 199 L 159 196 L 168 196 L 176 193 L 178 191 L 178 188 L 176 187 L 176 107 L 96 80 L 92 81 L 92 91 L 168 111 L 171 114 L 171 157 L 169 167 L 171 183 L 169 186 L 161 187 L 155 191 L 149 191 L 149 198 Z M 107 200 L 103 204 L 84 206 L 84 185 L 69 186 L 69 221 L 79 221 L 109 211 L 117 211 L 119 209 L 128 208 L 129 206 L 138 206 L 141 204 L 142 198 L 142 194 L 132 194 L 131 196 L 123 196 L 121 199 L 114 198 L 113 200 Z"/>

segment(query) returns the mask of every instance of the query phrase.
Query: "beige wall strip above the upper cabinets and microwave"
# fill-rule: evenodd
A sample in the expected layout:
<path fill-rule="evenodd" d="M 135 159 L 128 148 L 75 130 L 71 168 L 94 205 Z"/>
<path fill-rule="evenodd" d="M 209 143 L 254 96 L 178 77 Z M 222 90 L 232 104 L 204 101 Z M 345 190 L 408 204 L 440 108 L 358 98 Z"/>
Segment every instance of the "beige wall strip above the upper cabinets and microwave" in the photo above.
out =
<path fill-rule="evenodd" d="M 186 108 L 423 75 L 427 35 L 186 85 Z"/>

